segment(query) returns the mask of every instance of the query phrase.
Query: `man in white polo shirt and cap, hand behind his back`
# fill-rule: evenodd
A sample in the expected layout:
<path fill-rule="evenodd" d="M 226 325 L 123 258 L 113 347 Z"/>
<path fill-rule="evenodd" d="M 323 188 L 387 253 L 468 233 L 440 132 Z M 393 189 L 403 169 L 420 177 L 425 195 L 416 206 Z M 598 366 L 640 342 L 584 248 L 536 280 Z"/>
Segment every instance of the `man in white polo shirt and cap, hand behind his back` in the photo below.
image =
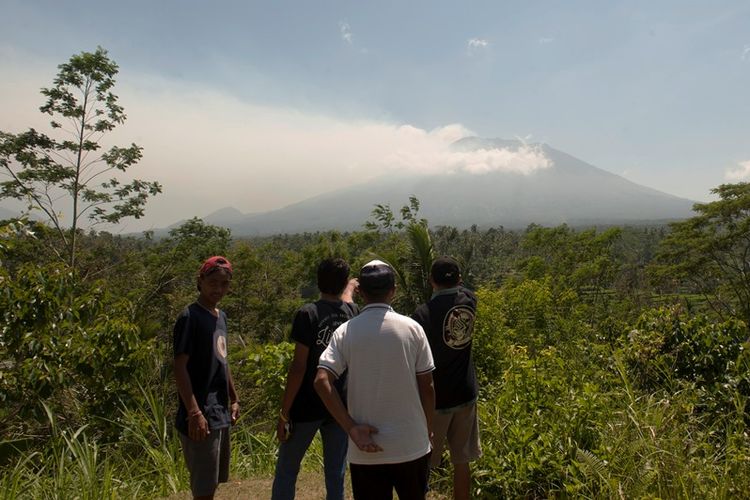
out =
<path fill-rule="evenodd" d="M 422 327 L 390 306 L 395 273 L 374 260 L 359 273 L 365 307 L 321 354 L 315 389 L 349 435 L 357 500 L 423 499 L 427 491 L 435 366 Z M 348 370 L 347 406 L 333 386 Z"/>

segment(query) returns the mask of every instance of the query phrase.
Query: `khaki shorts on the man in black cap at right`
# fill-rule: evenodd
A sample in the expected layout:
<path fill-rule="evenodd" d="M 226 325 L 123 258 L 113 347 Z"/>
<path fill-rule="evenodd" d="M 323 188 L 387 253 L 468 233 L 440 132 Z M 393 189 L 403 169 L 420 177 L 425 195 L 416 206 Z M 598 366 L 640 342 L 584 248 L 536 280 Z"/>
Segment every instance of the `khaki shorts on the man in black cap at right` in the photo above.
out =
<path fill-rule="evenodd" d="M 432 421 L 432 431 L 435 448 L 430 459 L 430 467 L 440 465 L 446 439 L 451 453 L 451 463 L 466 464 L 482 456 L 476 403 L 461 406 L 450 413 L 436 412 Z"/>

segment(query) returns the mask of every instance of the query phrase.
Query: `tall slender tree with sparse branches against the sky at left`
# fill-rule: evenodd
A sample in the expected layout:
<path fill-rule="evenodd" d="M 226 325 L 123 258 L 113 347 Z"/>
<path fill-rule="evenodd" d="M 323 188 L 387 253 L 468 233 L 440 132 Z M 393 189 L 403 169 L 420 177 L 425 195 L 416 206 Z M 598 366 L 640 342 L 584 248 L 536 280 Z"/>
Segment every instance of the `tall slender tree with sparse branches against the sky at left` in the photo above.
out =
<path fill-rule="evenodd" d="M 74 267 L 84 217 L 92 225 L 138 219 L 161 185 L 138 179 L 122 183 L 113 175 L 141 159 L 140 146 L 101 152 L 102 138 L 126 118 L 112 93 L 118 67 L 107 51 L 82 52 L 58 69 L 52 87 L 41 90 L 47 101 L 39 110 L 53 117 L 50 125 L 60 137 L 33 128 L 0 132 L 0 170 L 7 177 L 0 183 L 0 198 L 21 200 L 29 211 L 41 211 L 62 242 L 59 257 Z"/>

